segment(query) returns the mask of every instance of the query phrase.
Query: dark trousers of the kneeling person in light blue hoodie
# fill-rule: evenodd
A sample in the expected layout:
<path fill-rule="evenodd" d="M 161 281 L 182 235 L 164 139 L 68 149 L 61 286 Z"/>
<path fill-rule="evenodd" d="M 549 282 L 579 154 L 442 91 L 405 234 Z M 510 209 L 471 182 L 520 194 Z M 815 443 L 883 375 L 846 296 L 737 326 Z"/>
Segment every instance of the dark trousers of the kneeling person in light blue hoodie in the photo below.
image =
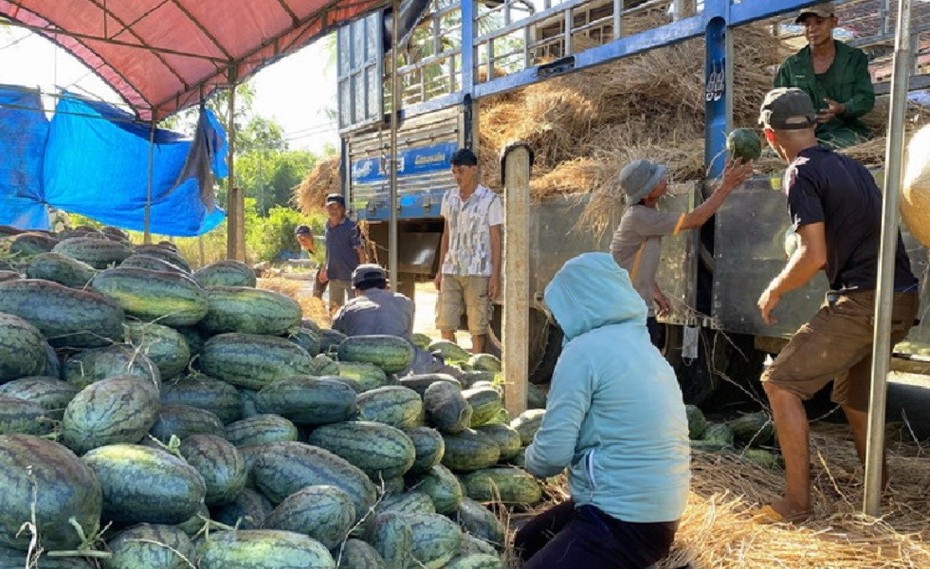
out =
<path fill-rule="evenodd" d="M 645 569 L 665 558 L 678 522 L 632 523 L 569 500 L 514 536 L 523 569 Z"/>

